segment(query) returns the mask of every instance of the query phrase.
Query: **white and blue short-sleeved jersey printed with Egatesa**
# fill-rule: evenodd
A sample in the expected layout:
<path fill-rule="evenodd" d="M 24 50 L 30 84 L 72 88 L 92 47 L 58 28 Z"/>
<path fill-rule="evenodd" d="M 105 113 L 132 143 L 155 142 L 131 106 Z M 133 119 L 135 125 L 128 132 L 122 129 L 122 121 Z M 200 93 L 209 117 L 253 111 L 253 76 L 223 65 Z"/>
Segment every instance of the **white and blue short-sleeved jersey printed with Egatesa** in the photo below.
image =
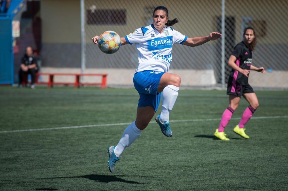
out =
<path fill-rule="evenodd" d="M 160 34 L 151 24 L 136 29 L 125 39 L 129 44 L 135 43 L 138 52 L 136 73 L 144 70 L 167 72 L 172 62 L 172 45 L 183 44 L 187 37 L 171 27 L 165 27 Z"/>

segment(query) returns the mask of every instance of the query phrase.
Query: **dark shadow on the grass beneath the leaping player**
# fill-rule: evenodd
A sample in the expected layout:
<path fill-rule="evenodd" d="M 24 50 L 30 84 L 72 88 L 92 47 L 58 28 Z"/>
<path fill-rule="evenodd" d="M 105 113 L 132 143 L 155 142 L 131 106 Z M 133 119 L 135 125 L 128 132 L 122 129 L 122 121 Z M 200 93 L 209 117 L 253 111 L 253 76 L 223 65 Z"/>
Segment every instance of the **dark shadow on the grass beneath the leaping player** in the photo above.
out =
<path fill-rule="evenodd" d="M 138 175 L 136 175 L 138 176 Z M 60 178 L 87 178 L 90 180 L 95 180 L 98 182 L 125 182 L 128 184 L 144 184 L 144 183 L 139 183 L 136 181 L 127 181 L 119 177 L 129 177 L 128 175 L 98 175 L 98 174 L 90 174 L 90 175 L 84 175 L 84 176 L 70 176 L 70 177 L 53 177 L 53 178 L 37 178 L 37 180 L 43 180 L 43 179 L 60 179 Z M 147 176 L 138 176 L 138 177 L 147 177 Z"/>

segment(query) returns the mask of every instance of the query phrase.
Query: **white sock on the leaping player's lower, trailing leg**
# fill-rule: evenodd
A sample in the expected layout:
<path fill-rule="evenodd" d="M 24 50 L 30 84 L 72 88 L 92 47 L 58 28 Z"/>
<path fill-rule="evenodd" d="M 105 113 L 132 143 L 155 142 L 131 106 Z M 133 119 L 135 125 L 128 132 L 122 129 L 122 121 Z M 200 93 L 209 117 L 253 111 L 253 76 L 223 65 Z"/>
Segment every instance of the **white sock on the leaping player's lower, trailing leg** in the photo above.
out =
<path fill-rule="evenodd" d="M 123 132 L 123 135 L 116 145 L 114 152 L 119 157 L 126 147 L 129 147 L 140 135 L 142 130 L 137 128 L 135 121 L 133 121 Z"/>

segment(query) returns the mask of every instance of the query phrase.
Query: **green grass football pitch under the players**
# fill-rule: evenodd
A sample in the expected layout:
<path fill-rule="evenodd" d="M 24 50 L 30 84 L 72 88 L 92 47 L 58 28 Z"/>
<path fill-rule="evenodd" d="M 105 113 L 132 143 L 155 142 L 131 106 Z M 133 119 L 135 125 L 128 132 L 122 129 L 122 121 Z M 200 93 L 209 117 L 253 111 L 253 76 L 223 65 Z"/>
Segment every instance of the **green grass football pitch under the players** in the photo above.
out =
<path fill-rule="evenodd" d="M 151 120 L 110 173 L 107 148 L 135 120 L 136 90 L 0 86 L 0 190 L 288 190 L 288 92 L 256 94 L 250 139 L 233 133 L 242 98 L 221 141 L 226 91 L 180 90 L 173 137 Z"/>

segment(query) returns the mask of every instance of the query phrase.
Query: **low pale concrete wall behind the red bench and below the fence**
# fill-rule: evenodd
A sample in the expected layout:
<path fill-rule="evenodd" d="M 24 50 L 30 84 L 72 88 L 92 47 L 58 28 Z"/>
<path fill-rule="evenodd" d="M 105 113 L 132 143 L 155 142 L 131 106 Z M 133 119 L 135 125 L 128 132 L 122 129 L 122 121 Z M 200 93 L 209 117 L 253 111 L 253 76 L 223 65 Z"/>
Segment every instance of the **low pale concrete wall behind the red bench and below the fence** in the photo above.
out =
<path fill-rule="evenodd" d="M 43 67 L 44 73 L 81 73 L 79 68 L 53 68 Z M 213 70 L 179 70 L 172 69 L 170 73 L 181 76 L 181 86 L 205 86 L 215 87 L 216 80 Z M 107 85 L 112 87 L 129 86 L 133 87 L 134 69 L 86 69 L 84 73 L 107 73 Z M 252 87 L 261 88 L 288 88 L 287 71 L 272 71 L 262 74 L 260 72 L 251 71 L 249 75 L 249 84 Z M 42 76 L 41 81 L 47 82 L 48 77 Z M 74 76 L 55 76 L 55 82 L 74 82 Z M 101 77 L 85 76 L 83 82 L 101 82 Z"/>

